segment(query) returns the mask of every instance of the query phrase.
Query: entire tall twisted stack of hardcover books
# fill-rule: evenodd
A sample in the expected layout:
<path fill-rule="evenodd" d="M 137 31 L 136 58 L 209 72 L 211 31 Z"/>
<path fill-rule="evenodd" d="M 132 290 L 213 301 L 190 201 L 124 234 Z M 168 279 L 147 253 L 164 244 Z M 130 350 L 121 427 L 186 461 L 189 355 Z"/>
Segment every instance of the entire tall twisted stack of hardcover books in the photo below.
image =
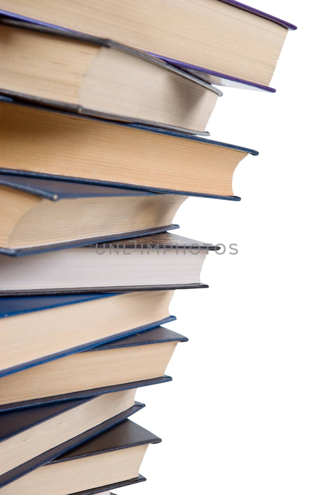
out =
<path fill-rule="evenodd" d="M 145 480 L 135 393 L 188 340 L 174 291 L 208 287 L 217 247 L 173 218 L 239 200 L 258 154 L 206 139 L 210 83 L 273 92 L 295 26 L 234 0 L 1 8 L 0 494 L 96 494 Z"/>

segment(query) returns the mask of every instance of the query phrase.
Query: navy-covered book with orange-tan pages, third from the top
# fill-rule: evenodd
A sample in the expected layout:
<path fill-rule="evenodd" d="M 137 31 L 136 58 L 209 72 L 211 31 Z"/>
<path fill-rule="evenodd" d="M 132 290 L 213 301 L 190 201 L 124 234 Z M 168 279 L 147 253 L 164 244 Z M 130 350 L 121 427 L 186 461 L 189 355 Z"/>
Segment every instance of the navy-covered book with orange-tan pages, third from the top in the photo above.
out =
<path fill-rule="evenodd" d="M 236 200 L 232 178 L 249 148 L 0 98 L 0 170 Z M 157 159 L 155 159 L 157 157 Z"/>

